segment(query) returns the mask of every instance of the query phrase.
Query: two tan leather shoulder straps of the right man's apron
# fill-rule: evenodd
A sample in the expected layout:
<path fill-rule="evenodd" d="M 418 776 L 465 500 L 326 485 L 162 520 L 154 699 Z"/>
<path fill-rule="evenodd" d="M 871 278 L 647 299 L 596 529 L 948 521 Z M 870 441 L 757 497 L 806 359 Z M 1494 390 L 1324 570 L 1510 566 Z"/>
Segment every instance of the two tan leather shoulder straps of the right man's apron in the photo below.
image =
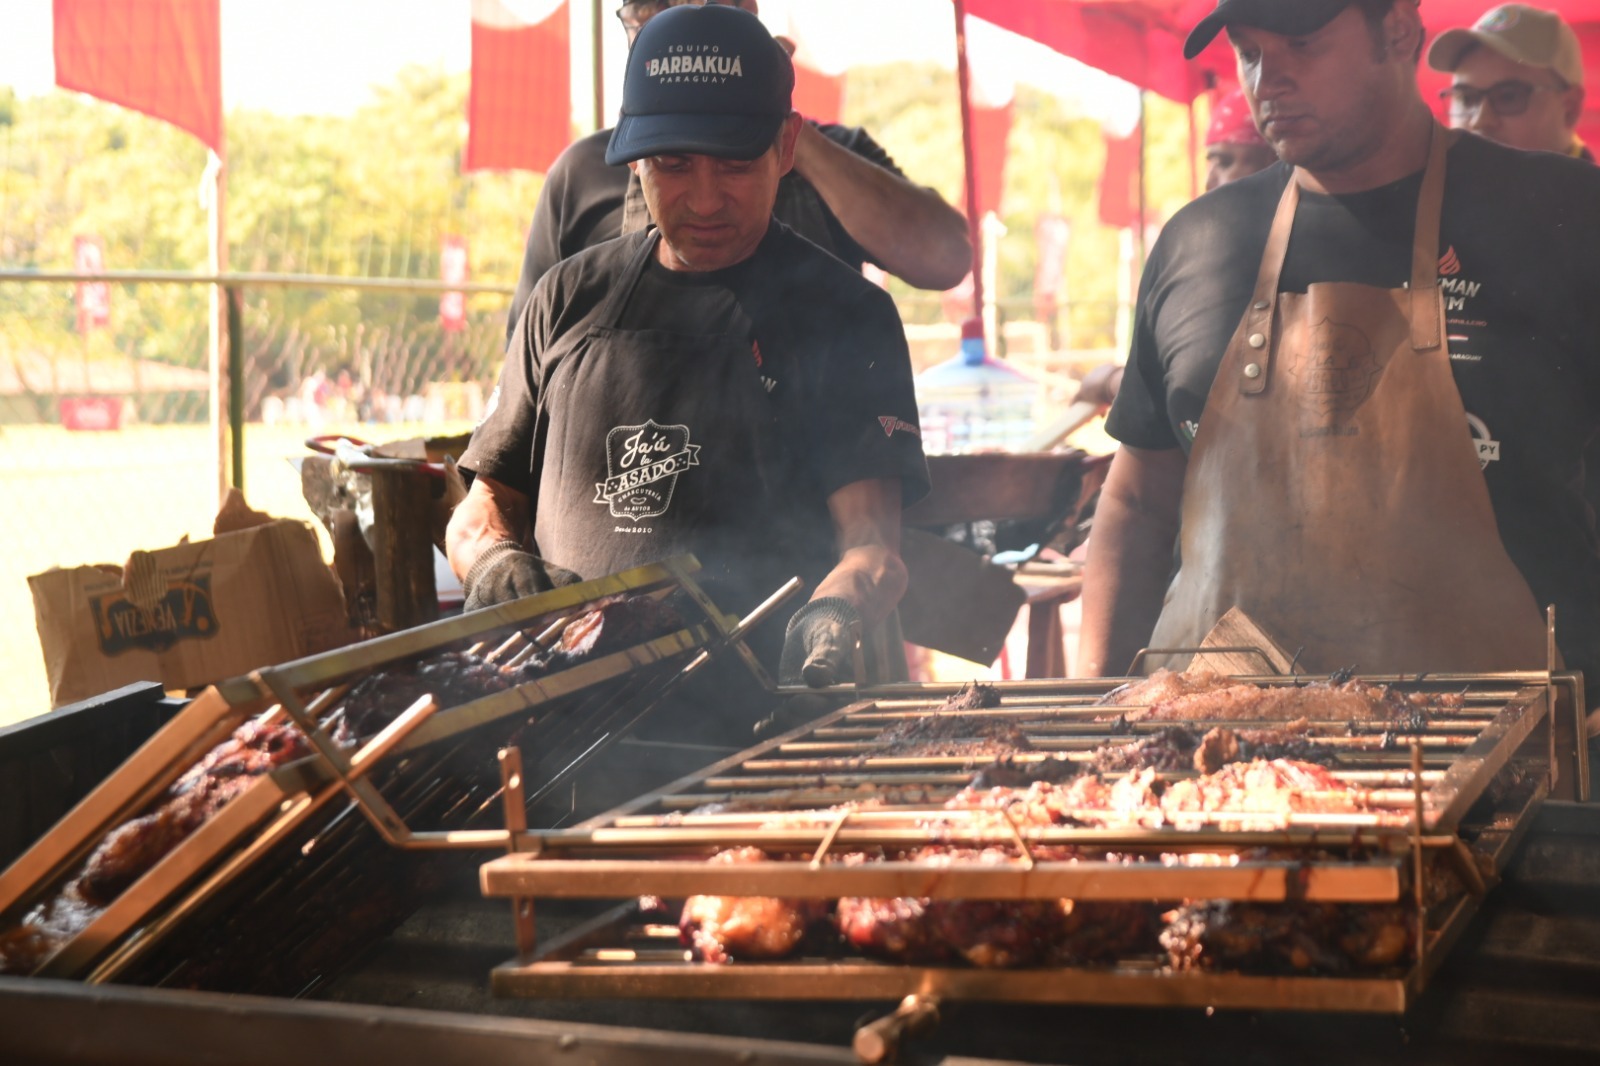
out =
<path fill-rule="evenodd" d="M 1411 347 L 1419 352 L 1432 351 L 1445 339 L 1445 299 L 1438 291 L 1438 219 L 1445 203 L 1448 150 L 1450 134 L 1437 122 L 1432 123 L 1427 168 L 1422 171 L 1422 189 L 1416 198 L 1416 226 L 1411 230 Z M 1250 298 L 1251 312 L 1258 314 L 1246 312 L 1246 322 L 1262 335 L 1264 343 L 1256 347 L 1272 344 L 1272 317 L 1259 312 L 1266 312 L 1277 301 L 1298 206 L 1299 182 L 1291 174 L 1278 200 L 1277 214 L 1272 216 L 1267 246 L 1256 274 L 1256 291 Z"/>

